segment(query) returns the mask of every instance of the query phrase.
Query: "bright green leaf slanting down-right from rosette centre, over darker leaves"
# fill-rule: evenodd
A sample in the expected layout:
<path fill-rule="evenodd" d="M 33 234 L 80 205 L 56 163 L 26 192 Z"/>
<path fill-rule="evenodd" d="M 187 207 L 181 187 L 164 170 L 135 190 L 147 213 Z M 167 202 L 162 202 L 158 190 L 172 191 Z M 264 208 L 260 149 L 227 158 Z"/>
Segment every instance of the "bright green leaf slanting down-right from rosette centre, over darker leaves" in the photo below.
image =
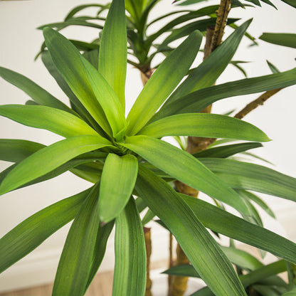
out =
<path fill-rule="evenodd" d="M 245 203 L 241 201 L 238 194 L 201 165 L 191 154 L 147 136 L 127 137 L 124 146 L 177 180 L 248 213 Z"/>

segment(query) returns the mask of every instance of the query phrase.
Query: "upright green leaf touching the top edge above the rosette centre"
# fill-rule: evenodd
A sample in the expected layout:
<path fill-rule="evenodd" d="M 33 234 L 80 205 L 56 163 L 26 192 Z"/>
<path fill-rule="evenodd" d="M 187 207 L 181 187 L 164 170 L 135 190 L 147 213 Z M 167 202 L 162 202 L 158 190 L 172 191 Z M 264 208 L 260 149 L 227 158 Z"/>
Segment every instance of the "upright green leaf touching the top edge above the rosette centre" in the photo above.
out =
<path fill-rule="evenodd" d="M 111 85 L 125 110 L 127 29 L 125 1 L 112 1 L 100 39 L 99 72 Z"/>

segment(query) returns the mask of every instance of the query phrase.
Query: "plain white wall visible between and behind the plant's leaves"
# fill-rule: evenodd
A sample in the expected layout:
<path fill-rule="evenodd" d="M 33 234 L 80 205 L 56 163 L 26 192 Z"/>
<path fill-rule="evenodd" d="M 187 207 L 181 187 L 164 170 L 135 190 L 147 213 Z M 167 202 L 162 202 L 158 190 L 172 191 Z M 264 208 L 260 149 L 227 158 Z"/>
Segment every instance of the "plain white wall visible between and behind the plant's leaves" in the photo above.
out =
<path fill-rule="evenodd" d="M 263 8 L 257 9 L 233 9 L 232 16 L 242 16 L 244 19 L 253 17 L 254 21 L 250 31 L 255 37 L 259 37 L 263 31 L 293 32 L 296 28 L 295 10 L 290 6 L 274 0 L 278 11 L 263 4 Z M 212 2 L 213 3 L 213 2 Z M 43 68 L 41 60 L 33 62 L 33 58 L 43 41 L 41 31 L 36 27 L 44 23 L 60 21 L 68 11 L 78 4 L 85 4 L 83 0 L 31 0 L 31 1 L 0 1 L 0 65 L 23 73 L 28 78 L 36 81 L 46 88 L 53 95 L 67 102 L 65 96 L 56 86 L 55 82 L 46 69 Z M 161 14 L 171 9 L 171 0 L 164 0 L 158 6 L 155 14 Z M 95 38 L 96 31 L 91 28 L 75 27 L 65 30 L 68 37 L 83 38 L 91 41 Z M 288 70 L 295 67 L 296 50 L 272 46 L 260 42 L 260 48 L 247 48 L 250 42 L 243 41 L 240 46 L 240 53 L 236 60 L 249 60 L 253 63 L 245 65 L 250 76 L 269 74 L 265 59 L 277 65 L 280 70 Z M 137 71 L 133 68 L 128 70 L 127 80 L 127 103 L 128 106 L 141 89 L 141 82 Z M 225 75 L 218 80 L 222 83 L 227 80 L 243 78 L 233 67 L 228 67 Z M 28 97 L 20 90 L 14 88 L 4 80 L 0 80 L 1 105 L 18 103 L 23 104 Z M 270 159 L 276 165 L 277 170 L 296 177 L 295 170 L 295 87 L 282 90 L 264 107 L 246 117 L 246 120 L 254 123 L 263 129 L 273 139 L 266 143 L 264 149 L 258 149 L 258 154 Z M 217 102 L 214 112 L 223 112 L 233 109 L 240 110 L 247 102 L 254 100 L 257 95 L 248 97 L 236 97 L 223 102 Z M 15 122 L 0 118 L 0 137 L 29 139 L 43 144 L 56 142 L 59 137 L 43 130 L 23 127 Z M 9 166 L 6 162 L 0 162 L 0 169 Z M 0 237 L 36 211 L 88 188 L 89 184 L 71 174 L 63 174 L 57 179 L 46 181 L 43 184 L 16 190 L 0 199 Z M 296 241 L 296 232 L 292 226 L 292 219 L 296 207 L 290 201 L 267 197 L 270 205 L 275 209 L 277 216 L 287 234 Z M 282 228 L 267 219 L 268 228 Z M 0 291 L 38 285 L 44 282 L 51 282 L 58 264 L 58 254 L 63 247 L 63 242 L 68 226 L 58 231 L 33 253 L 21 260 L 2 275 L 0 275 Z M 166 257 L 166 236 L 161 228 L 154 230 L 154 260 Z M 162 246 L 162 247 L 160 247 Z M 1 251 L 1 250 L 0 250 Z M 102 264 L 102 270 L 112 269 L 112 241 L 108 244 L 106 260 Z"/>

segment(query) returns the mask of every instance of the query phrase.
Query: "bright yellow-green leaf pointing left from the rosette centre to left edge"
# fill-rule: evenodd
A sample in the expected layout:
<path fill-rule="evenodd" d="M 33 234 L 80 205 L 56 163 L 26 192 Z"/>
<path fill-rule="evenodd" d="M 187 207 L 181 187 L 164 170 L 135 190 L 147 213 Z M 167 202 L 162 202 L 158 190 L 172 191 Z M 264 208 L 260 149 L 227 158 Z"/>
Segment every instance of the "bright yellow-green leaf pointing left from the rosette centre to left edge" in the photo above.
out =
<path fill-rule="evenodd" d="M 98 135 L 79 117 L 52 107 L 1 105 L 0 115 L 22 125 L 47 129 L 63 137 L 75 137 L 83 134 Z"/>

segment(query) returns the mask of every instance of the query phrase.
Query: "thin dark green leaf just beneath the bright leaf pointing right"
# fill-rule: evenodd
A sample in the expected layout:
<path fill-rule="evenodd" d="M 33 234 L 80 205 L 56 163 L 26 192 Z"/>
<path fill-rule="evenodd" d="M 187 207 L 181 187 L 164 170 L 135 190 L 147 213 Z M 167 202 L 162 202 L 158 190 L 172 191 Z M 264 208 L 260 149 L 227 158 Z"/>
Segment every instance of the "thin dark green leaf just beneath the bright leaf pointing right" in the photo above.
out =
<path fill-rule="evenodd" d="M 194 157 L 218 157 L 218 158 L 227 158 L 231 157 L 240 152 L 245 152 L 249 149 L 254 149 L 258 147 L 262 147 L 263 145 L 260 143 L 239 143 L 239 144 L 230 144 L 220 147 L 213 147 L 203 150 L 201 152 L 197 152 Z"/>

